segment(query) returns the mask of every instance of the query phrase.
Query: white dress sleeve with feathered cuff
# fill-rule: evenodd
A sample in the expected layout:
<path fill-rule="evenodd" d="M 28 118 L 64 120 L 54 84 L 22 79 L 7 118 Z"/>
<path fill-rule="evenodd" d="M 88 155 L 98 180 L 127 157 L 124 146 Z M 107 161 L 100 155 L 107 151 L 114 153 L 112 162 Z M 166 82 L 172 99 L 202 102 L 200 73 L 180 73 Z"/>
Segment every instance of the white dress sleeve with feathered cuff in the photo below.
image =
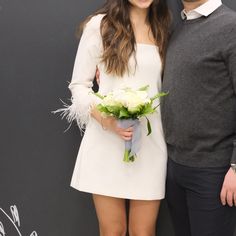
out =
<path fill-rule="evenodd" d="M 78 46 L 71 82 L 71 105 L 64 103 L 62 118 L 69 123 L 77 121 L 80 130 L 84 129 L 90 119 L 91 107 L 98 103 L 99 98 L 93 94 L 93 81 L 96 66 L 102 52 L 99 16 L 93 17 L 85 26 Z"/>

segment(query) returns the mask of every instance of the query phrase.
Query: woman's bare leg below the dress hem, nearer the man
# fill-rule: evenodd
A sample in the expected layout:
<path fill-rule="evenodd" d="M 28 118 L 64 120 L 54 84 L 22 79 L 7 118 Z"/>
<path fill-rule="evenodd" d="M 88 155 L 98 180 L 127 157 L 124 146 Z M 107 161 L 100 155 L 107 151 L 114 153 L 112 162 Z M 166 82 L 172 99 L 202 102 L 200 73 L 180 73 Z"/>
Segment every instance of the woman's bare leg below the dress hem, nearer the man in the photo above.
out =
<path fill-rule="evenodd" d="M 129 234 L 130 236 L 154 236 L 160 201 L 130 200 Z"/>

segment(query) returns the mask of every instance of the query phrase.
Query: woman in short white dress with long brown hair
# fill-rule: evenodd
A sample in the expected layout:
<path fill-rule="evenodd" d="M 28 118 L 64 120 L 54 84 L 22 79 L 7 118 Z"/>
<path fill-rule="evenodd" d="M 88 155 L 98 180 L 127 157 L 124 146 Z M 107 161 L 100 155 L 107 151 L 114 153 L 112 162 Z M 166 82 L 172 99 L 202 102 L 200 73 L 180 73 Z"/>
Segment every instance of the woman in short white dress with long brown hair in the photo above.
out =
<path fill-rule="evenodd" d="M 160 200 L 165 195 L 166 146 L 160 112 L 150 115 L 152 133 L 141 120 L 141 150 L 133 163 L 122 161 L 124 140 L 132 127 L 118 127 L 113 117 L 96 109 L 92 93 L 96 68 L 99 93 L 120 87 L 149 85 L 149 95 L 161 89 L 168 34 L 165 0 L 110 0 L 84 24 L 72 81 L 68 119 L 86 126 L 71 186 L 93 194 L 102 236 L 155 235 Z M 130 199 L 129 225 L 125 199 Z"/>

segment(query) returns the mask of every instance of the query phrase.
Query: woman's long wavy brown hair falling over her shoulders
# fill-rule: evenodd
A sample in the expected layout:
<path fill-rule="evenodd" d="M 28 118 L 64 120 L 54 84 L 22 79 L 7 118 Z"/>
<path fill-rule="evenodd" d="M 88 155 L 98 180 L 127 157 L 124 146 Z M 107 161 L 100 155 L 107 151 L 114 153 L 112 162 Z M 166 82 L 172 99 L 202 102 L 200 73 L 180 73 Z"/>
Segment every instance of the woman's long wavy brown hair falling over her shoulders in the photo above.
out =
<path fill-rule="evenodd" d="M 106 72 L 115 76 L 129 73 L 129 59 L 136 50 L 136 40 L 130 20 L 130 3 L 128 0 L 107 0 L 103 8 L 89 16 L 105 14 L 101 22 L 101 36 Z M 164 64 L 168 30 L 170 23 L 169 10 L 166 0 L 154 0 L 150 6 L 147 22 L 150 25 L 156 45 L 159 47 L 160 57 Z"/>

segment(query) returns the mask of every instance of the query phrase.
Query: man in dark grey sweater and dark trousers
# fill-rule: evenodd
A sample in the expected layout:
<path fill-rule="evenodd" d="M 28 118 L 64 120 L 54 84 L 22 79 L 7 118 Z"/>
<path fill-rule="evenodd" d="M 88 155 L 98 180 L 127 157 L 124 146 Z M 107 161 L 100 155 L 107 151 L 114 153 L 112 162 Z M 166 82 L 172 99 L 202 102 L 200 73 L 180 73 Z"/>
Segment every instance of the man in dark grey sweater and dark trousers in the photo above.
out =
<path fill-rule="evenodd" d="M 236 13 L 184 0 L 161 102 L 167 201 L 176 236 L 233 236 L 236 224 Z"/>

